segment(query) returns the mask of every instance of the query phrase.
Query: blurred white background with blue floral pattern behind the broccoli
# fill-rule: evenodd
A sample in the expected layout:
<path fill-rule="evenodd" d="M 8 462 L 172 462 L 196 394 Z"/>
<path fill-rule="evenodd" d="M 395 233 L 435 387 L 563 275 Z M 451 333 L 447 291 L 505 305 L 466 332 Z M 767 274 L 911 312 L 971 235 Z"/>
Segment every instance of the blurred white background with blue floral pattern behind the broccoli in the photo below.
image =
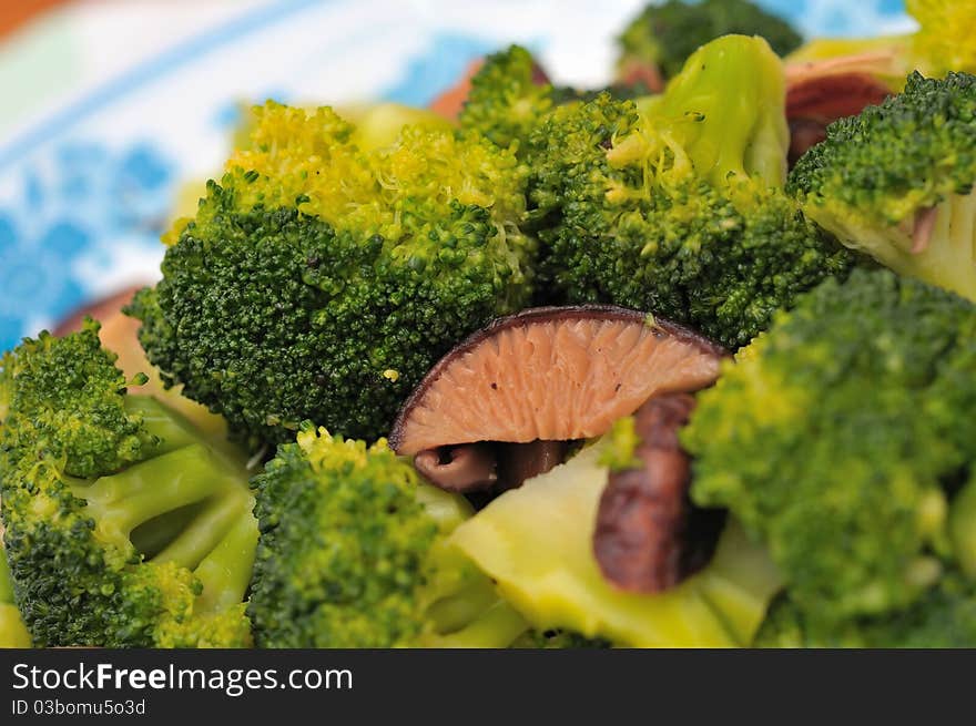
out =
<path fill-rule="evenodd" d="M 243 104 L 425 105 L 510 42 L 602 85 L 643 4 L 0 0 L 0 350 L 155 278 L 160 234 L 218 173 Z M 759 4 L 807 38 L 913 27 L 902 0 Z"/>

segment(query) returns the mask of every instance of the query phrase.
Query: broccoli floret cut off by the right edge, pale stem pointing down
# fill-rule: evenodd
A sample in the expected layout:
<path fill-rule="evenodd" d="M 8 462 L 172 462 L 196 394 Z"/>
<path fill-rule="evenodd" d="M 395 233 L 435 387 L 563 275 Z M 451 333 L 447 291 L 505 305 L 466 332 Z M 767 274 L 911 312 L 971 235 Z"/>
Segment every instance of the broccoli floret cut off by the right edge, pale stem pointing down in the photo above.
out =
<path fill-rule="evenodd" d="M 913 73 L 905 91 L 827 127 L 787 190 L 845 245 L 976 299 L 976 76 Z"/>

